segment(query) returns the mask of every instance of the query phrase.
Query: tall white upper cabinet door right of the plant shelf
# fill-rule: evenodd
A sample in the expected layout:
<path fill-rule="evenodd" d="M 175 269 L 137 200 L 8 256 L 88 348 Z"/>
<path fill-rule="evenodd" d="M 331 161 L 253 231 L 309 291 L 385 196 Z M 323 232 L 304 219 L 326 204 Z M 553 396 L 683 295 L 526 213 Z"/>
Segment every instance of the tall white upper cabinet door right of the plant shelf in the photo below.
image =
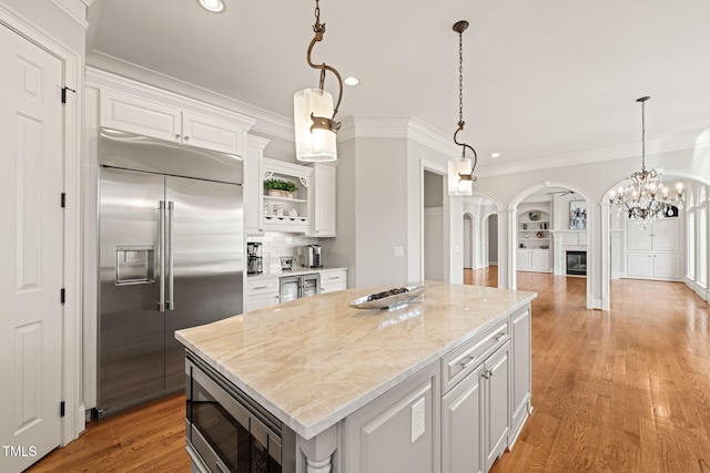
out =
<path fill-rule="evenodd" d="M 316 237 L 337 236 L 335 229 L 336 167 L 315 163 L 313 167 L 314 196 L 312 198 L 312 224 L 310 233 Z"/>

